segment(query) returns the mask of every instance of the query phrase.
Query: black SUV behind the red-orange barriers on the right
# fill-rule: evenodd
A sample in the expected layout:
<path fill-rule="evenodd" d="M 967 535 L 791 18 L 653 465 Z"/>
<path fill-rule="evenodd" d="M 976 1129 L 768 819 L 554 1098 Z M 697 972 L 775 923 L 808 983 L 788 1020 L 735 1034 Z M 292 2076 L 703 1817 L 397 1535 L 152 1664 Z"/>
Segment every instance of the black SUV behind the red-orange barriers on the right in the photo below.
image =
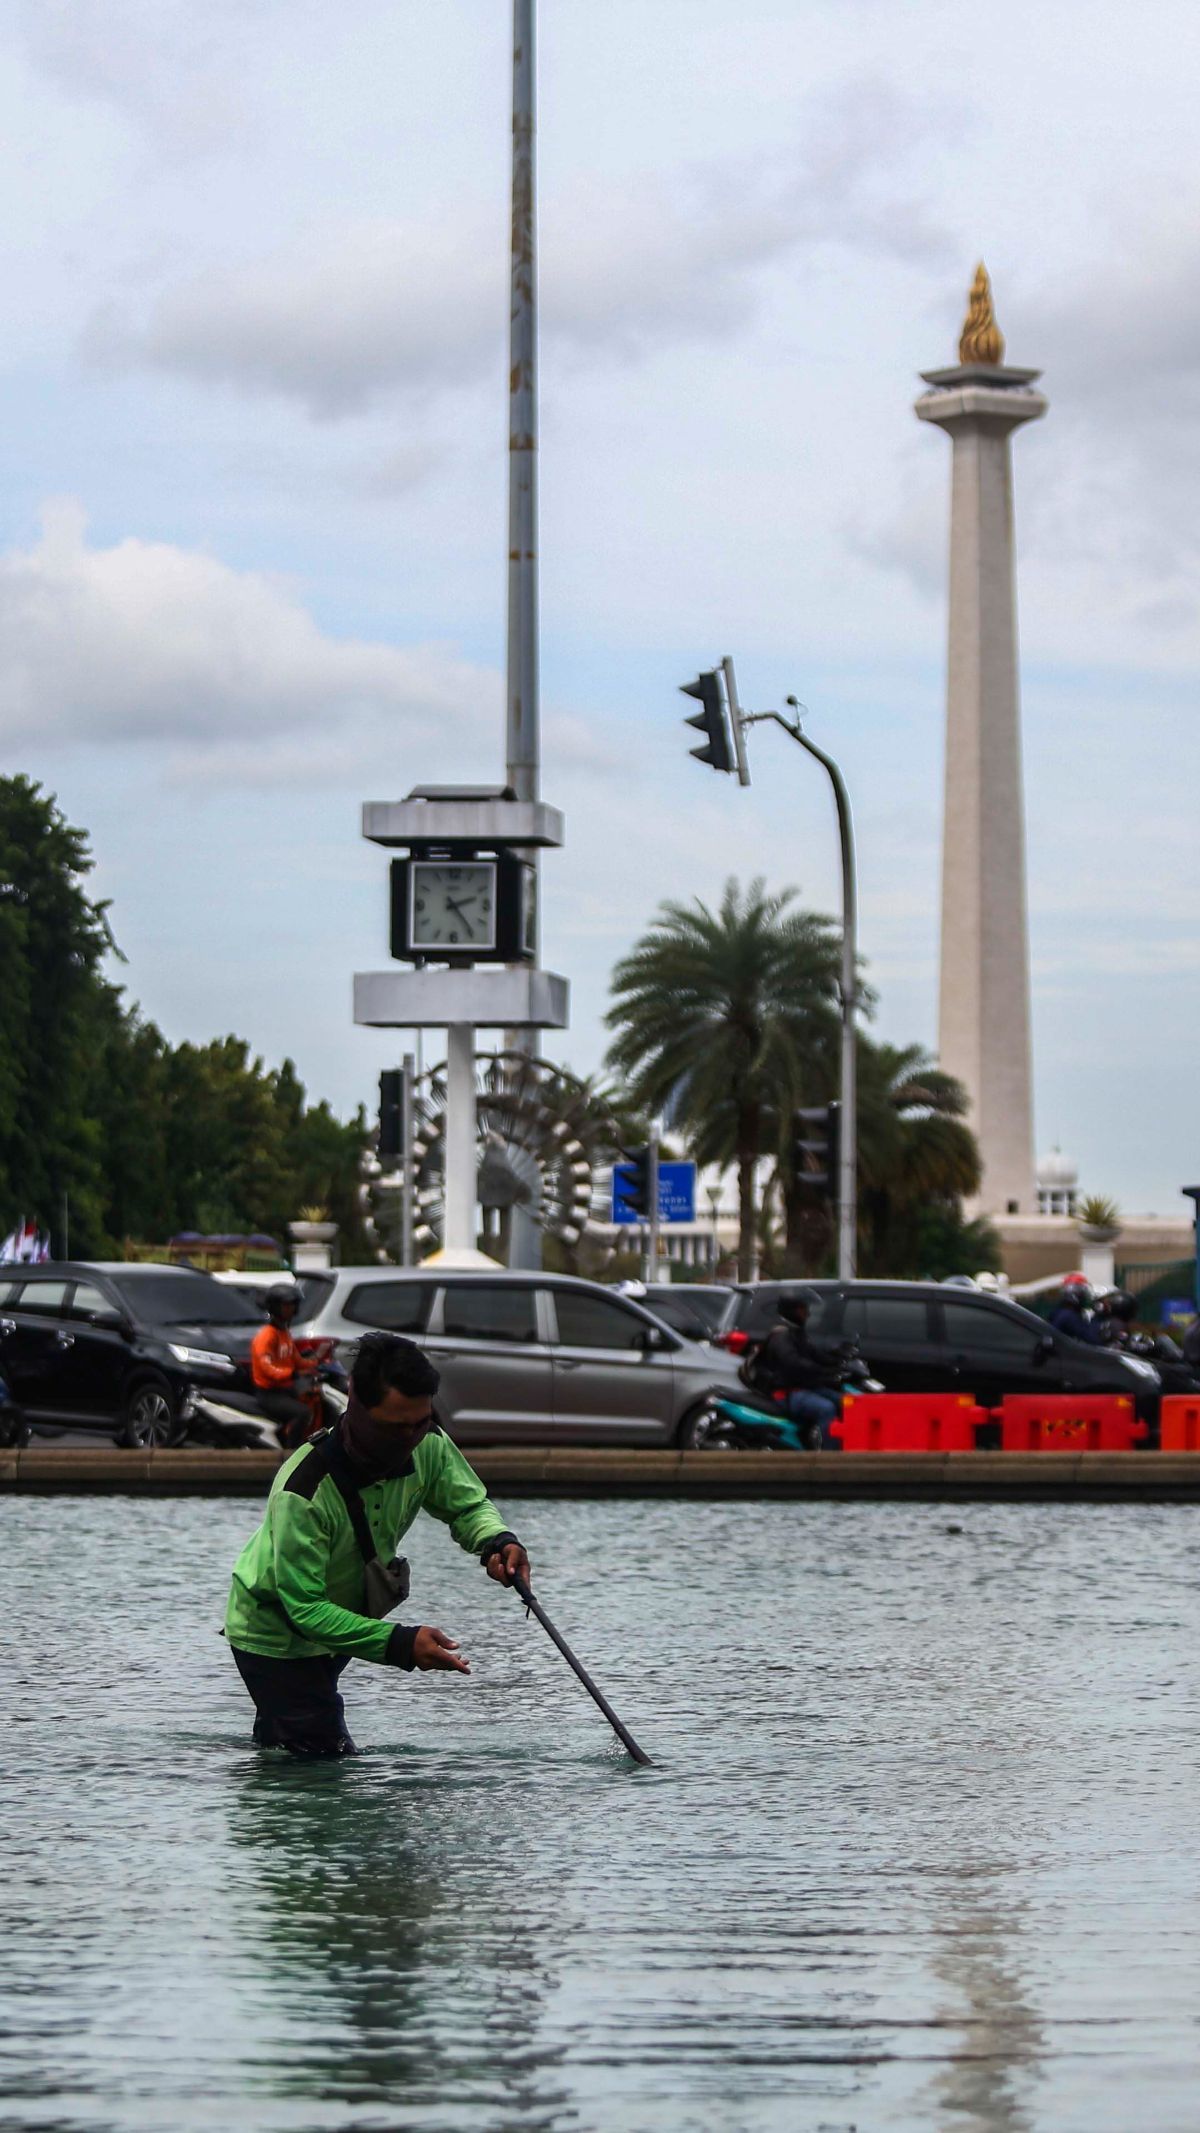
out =
<path fill-rule="evenodd" d="M 716 1344 L 740 1352 L 765 1340 L 787 1288 L 818 1297 L 810 1333 L 853 1340 L 889 1393 L 970 1393 L 980 1408 L 1000 1406 L 1004 1393 L 1125 1393 L 1147 1416 L 1157 1408 L 1151 1363 L 1055 1333 L 1021 1303 L 942 1282 L 752 1282 L 733 1288 Z"/>

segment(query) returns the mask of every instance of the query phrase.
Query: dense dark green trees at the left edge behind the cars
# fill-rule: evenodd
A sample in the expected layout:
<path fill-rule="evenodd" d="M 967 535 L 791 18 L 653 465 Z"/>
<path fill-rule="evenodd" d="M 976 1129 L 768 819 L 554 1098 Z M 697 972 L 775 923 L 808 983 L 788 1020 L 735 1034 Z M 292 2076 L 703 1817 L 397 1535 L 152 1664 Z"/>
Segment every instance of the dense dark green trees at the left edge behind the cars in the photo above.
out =
<path fill-rule="evenodd" d="M 326 1205 L 360 1239 L 362 1118 L 309 1105 L 290 1060 L 241 1037 L 171 1045 L 104 975 L 92 855 L 28 779 L 0 779 L 0 1220 L 40 1220 L 62 1250 L 119 1254 L 183 1229 L 286 1239 Z"/>

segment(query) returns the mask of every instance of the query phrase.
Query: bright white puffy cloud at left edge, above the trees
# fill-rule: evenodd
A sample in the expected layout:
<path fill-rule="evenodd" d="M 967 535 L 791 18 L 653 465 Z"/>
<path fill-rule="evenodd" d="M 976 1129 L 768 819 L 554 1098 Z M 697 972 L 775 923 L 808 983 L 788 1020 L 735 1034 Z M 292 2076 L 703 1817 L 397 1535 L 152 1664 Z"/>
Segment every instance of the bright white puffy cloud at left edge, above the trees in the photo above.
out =
<path fill-rule="evenodd" d="M 143 742 L 213 776 L 273 751 L 279 774 L 326 779 L 362 755 L 394 764 L 409 740 L 475 740 L 497 704 L 497 674 L 437 644 L 330 638 L 264 572 L 166 542 L 87 546 L 75 501 L 0 557 L 9 749 Z"/>

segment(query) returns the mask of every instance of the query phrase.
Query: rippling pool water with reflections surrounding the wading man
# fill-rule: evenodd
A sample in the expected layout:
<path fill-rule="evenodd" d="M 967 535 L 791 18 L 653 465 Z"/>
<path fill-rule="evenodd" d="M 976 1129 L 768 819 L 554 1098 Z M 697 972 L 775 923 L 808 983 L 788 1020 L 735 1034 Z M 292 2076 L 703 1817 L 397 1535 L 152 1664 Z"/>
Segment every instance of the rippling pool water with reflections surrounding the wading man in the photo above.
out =
<path fill-rule="evenodd" d="M 433 1525 L 305 1766 L 254 1504 L 4 1502 L 0 2127 L 1191 2133 L 1191 1510 L 505 1510 L 652 1770 Z"/>

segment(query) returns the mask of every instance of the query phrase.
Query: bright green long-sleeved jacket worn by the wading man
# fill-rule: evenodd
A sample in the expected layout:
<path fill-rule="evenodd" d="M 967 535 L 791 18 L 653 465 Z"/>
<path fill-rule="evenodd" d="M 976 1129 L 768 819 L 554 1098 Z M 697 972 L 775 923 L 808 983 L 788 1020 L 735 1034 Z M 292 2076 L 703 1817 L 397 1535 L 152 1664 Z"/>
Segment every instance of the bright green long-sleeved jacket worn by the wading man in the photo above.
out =
<path fill-rule="evenodd" d="M 469 1555 L 484 1553 L 486 1542 L 501 1536 L 514 1538 L 488 1504 L 480 1476 L 441 1429 L 422 1438 L 407 1474 L 360 1482 L 360 1495 L 384 1561 L 418 1510 L 441 1519 Z M 337 1651 L 411 1666 L 416 1632 L 373 1621 L 362 1602 L 364 1563 L 345 1497 L 320 1450 L 305 1444 L 279 1468 L 266 1517 L 234 1563 L 226 1636 L 239 1651 L 273 1659 Z"/>

